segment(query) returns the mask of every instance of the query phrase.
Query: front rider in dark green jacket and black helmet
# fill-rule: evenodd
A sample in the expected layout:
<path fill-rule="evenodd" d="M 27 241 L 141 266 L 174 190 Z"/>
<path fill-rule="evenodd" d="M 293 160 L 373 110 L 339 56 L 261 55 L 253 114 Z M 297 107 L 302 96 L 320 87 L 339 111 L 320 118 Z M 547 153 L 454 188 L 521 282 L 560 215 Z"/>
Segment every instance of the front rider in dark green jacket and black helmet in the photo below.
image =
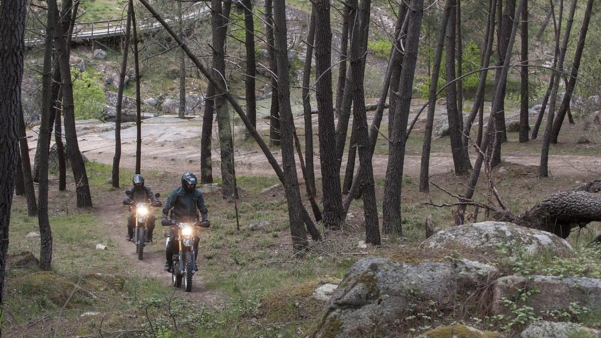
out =
<path fill-rule="evenodd" d="M 205 227 L 210 225 L 207 207 L 204 205 L 203 193 L 196 189 L 197 183 L 197 178 L 193 173 L 188 172 L 182 175 L 182 186 L 173 189 L 171 194 L 167 197 L 165 204 L 163 204 L 163 225 L 169 223 L 167 214 L 171 209 L 171 220 L 173 221 L 196 222 L 198 221 L 198 211 L 200 211 L 203 225 Z M 176 232 L 170 230 L 169 239 L 165 248 L 165 271 L 171 269 L 171 259 L 176 237 L 175 234 Z M 198 257 L 198 238 L 194 241 L 194 253 L 195 257 Z M 194 268 L 198 271 L 196 262 L 194 262 Z"/>

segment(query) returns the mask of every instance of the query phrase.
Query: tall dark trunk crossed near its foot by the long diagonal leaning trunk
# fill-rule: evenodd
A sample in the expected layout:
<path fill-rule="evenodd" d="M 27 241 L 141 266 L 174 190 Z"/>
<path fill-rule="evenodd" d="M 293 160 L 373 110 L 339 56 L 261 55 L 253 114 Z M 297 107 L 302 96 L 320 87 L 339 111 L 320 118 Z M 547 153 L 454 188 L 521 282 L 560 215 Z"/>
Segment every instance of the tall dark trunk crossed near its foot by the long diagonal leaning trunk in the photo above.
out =
<path fill-rule="evenodd" d="M 284 0 L 273 1 L 273 35 L 275 38 L 276 61 L 278 69 L 281 70 L 278 73 L 278 101 L 280 108 L 279 116 L 281 118 L 282 165 L 284 166 L 284 177 L 286 180 L 285 194 L 288 203 L 288 218 L 290 218 L 290 234 L 294 249 L 301 250 L 307 246 L 307 233 L 304 227 L 301 192 L 299 191 L 296 164 L 294 161 L 294 144 L 292 140 L 294 121 L 290 109 L 290 83 L 288 82 L 288 72 L 285 71 L 288 69 L 285 7 Z M 338 184 L 340 185 L 340 183 Z"/>

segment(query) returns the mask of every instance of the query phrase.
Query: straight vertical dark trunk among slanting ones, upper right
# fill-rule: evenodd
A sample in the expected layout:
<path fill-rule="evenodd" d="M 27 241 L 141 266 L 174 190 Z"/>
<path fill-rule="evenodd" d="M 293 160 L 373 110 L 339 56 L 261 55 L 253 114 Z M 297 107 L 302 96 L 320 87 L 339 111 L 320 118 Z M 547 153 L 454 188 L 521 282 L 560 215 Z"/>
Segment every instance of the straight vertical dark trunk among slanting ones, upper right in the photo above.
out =
<path fill-rule="evenodd" d="M 520 72 L 520 143 L 528 142 L 528 2 L 524 4 L 524 10 L 522 11 L 522 30 L 520 35 L 522 37 L 522 69 Z"/>

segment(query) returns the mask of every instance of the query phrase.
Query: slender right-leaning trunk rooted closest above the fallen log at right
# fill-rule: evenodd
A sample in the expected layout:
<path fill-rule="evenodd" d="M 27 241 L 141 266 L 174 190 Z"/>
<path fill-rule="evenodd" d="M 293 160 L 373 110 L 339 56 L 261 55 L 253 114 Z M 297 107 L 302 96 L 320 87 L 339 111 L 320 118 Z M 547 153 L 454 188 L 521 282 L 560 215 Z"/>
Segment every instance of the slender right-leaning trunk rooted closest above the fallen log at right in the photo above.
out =
<path fill-rule="evenodd" d="M 555 118 L 555 105 L 557 104 L 557 91 L 559 89 L 559 83 L 561 79 L 561 74 L 559 72 L 563 72 L 563 63 L 566 58 L 567 51 L 567 43 L 570 40 L 570 31 L 572 31 L 572 23 L 574 22 L 574 13 L 576 11 L 576 5 L 578 4 L 578 0 L 572 0 L 572 6 L 570 7 L 570 13 L 568 14 L 568 19 L 566 23 L 566 32 L 563 38 L 563 43 L 560 48 L 559 60 L 557 61 L 557 72 L 555 72 L 555 83 L 553 84 L 553 90 L 551 90 L 551 103 L 549 103 L 549 114 L 547 115 L 547 125 L 545 126 L 545 136 L 543 137 L 543 146 L 541 147 L 540 152 L 540 167 L 538 168 L 538 177 L 547 177 L 549 175 L 548 165 L 549 165 L 549 146 L 551 144 L 551 137 L 553 131 L 553 120 Z M 560 25 L 557 28 L 557 41 L 559 42 L 560 33 L 561 33 L 561 14 L 563 11 L 563 0 L 560 1 L 560 5 L 562 9 L 560 10 Z M 557 48 L 558 45 L 555 45 Z M 564 94 L 564 96 L 566 96 Z M 570 95 L 571 96 L 571 95 Z M 568 101 L 568 105 L 569 105 Z"/>

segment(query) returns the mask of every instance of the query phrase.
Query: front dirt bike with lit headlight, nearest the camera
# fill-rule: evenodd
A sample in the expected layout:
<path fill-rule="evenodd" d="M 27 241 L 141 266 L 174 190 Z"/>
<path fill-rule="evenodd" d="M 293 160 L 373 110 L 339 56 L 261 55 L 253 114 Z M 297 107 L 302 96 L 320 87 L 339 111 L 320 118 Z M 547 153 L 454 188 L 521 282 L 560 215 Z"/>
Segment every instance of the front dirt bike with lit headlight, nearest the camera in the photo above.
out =
<path fill-rule="evenodd" d="M 195 223 L 179 223 L 163 220 L 163 225 L 171 226 L 172 231 L 177 230 L 175 242 L 177 243 L 178 253 L 173 254 L 171 261 L 171 283 L 175 287 L 181 287 L 183 280 L 184 291 L 190 292 L 192 290 L 192 276 L 196 272 L 195 262 L 197 253 L 194 252 L 194 242 L 198 238 L 198 230 L 210 227 L 210 223 L 207 220 Z M 165 247 L 169 244 L 170 240 L 171 238 L 167 238 Z"/>

